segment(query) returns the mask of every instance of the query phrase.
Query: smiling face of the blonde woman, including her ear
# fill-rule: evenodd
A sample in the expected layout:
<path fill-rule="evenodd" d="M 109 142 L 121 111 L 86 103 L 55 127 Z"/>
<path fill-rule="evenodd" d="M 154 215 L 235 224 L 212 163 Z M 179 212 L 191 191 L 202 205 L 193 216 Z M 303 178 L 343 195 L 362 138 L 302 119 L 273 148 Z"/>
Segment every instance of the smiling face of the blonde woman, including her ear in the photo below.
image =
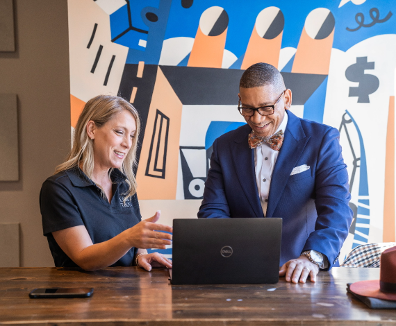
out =
<path fill-rule="evenodd" d="M 93 125 L 92 134 L 88 126 L 88 135 L 91 139 L 93 135 L 95 168 L 119 169 L 131 149 L 135 132 L 136 121 L 128 110 L 119 112 L 101 128 Z"/>

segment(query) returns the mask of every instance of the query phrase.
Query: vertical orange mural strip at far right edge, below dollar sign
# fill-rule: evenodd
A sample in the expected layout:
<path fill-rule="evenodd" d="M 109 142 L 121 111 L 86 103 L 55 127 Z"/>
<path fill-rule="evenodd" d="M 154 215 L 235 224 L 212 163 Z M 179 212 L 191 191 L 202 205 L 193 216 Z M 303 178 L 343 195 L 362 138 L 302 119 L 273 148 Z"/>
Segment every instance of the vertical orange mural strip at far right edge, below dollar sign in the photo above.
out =
<path fill-rule="evenodd" d="M 382 242 L 395 242 L 395 96 L 389 98 L 388 128 L 386 130 Z"/>

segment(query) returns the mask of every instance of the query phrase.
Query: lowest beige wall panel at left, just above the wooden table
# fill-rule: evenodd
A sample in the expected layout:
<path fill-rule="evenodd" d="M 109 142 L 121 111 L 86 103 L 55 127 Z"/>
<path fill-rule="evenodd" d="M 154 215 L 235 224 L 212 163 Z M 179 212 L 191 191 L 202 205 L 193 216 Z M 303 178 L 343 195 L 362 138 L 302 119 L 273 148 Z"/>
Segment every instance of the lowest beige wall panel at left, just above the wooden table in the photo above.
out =
<path fill-rule="evenodd" d="M 0 223 L 0 267 L 19 267 L 19 223 Z"/>

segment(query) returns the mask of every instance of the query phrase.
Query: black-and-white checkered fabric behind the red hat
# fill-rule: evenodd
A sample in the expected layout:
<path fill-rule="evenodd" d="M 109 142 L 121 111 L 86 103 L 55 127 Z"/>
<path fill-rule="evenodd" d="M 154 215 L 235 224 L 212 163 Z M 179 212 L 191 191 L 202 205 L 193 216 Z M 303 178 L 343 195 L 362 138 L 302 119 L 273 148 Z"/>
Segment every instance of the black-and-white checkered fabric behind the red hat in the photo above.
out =
<path fill-rule="evenodd" d="M 379 267 L 379 257 L 381 253 L 390 248 L 395 247 L 396 242 L 368 243 L 361 245 L 351 252 L 343 262 L 341 267 Z"/>

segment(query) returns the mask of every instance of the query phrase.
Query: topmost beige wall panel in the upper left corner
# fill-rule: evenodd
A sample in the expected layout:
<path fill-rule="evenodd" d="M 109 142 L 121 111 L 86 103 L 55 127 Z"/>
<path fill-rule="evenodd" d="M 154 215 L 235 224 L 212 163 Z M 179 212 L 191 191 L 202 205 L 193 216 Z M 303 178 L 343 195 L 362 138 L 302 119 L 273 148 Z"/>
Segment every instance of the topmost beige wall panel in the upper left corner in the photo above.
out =
<path fill-rule="evenodd" d="M 13 0 L 0 0 L 0 51 L 15 51 Z"/>

